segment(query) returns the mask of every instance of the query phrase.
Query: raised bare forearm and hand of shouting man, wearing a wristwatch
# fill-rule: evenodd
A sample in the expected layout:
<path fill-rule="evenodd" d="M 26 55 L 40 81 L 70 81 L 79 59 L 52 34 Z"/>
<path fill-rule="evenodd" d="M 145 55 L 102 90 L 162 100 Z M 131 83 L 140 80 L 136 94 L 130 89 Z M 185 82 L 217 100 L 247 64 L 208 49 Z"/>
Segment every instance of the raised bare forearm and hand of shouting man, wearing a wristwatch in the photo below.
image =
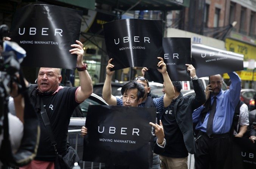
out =
<path fill-rule="evenodd" d="M 83 68 L 84 67 L 83 44 L 79 40 L 76 40 L 76 43 L 78 44 L 71 45 L 73 49 L 69 51 L 71 54 L 77 55 L 76 66 L 78 68 Z M 83 102 L 85 99 L 89 98 L 89 96 L 92 94 L 92 79 L 89 73 L 87 72 L 87 70 L 78 71 L 78 74 L 79 74 L 81 88 L 79 88 L 76 93 L 76 101 Z"/>

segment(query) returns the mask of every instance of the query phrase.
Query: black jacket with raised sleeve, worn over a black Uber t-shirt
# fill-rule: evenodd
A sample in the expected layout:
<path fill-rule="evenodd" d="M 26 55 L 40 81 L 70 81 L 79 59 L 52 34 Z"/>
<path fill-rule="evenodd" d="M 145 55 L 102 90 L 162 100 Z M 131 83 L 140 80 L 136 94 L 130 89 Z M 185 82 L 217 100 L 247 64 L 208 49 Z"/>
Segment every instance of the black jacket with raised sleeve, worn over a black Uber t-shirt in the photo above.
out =
<path fill-rule="evenodd" d="M 192 95 L 183 97 L 182 93 L 180 93 L 174 104 L 173 113 L 175 114 L 176 122 L 181 132 L 183 133 L 183 139 L 187 151 L 191 154 L 194 154 L 195 141 L 193 135 L 192 113 L 195 109 L 204 104 L 206 99 L 201 82 L 198 79 L 192 80 L 192 82 L 196 94 L 195 97 Z M 168 109 L 169 107 L 167 107 L 167 110 Z"/>

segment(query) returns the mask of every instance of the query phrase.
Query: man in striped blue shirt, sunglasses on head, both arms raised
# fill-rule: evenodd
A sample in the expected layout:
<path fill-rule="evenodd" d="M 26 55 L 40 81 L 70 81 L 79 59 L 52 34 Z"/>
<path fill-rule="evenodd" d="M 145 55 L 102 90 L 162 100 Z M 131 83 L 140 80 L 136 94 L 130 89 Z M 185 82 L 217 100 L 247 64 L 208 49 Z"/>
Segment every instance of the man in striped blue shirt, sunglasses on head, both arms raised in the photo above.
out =
<path fill-rule="evenodd" d="M 162 73 L 164 82 L 166 82 L 166 84 L 167 84 L 165 86 L 166 93 L 164 96 L 162 96 L 160 98 L 153 98 L 153 99 L 151 97 L 147 97 L 147 93 L 149 93 L 149 91 L 150 91 L 150 87 L 148 86 L 147 79 L 145 79 L 144 77 L 136 77 L 133 80 L 142 84 L 142 86 L 145 89 L 145 94 L 142 97 L 142 100 L 140 102 L 138 102 L 138 107 L 156 107 L 157 112 L 162 112 L 164 110 L 164 107 L 168 107 L 170 105 L 170 103 L 172 102 L 172 99 L 174 98 L 174 95 L 175 95 L 175 91 L 174 91 L 174 88 L 172 85 L 172 81 L 169 78 L 169 75 L 166 71 L 166 64 L 164 63 L 164 61 L 161 57 L 158 57 L 158 59 L 160 61 L 158 62 L 157 65 L 159 68 L 161 68 L 161 69 L 158 69 L 158 71 L 160 73 Z M 110 70 L 111 68 L 114 67 L 114 65 L 111 64 L 111 61 L 112 61 L 112 59 L 110 59 L 108 61 L 108 65 L 106 67 L 107 75 L 106 75 L 106 80 L 105 80 L 103 90 L 102 90 L 102 97 L 109 105 L 121 105 L 121 106 L 127 105 L 127 103 L 124 102 L 124 100 L 123 100 L 123 99 L 125 99 L 124 97 L 122 99 L 120 99 L 120 98 L 116 98 L 115 96 L 113 96 L 111 94 L 112 93 L 111 78 L 112 78 L 112 74 L 114 73 L 114 71 Z M 154 125 L 156 125 L 156 124 L 154 124 Z M 165 141 L 164 140 L 162 140 L 162 141 L 163 142 L 161 142 L 161 143 L 160 143 L 160 141 L 158 142 L 158 143 L 160 143 L 159 145 L 165 146 Z M 156 154 L 154 154 L 154 156 L 153 156 L 153 169 L 160 169 L 159 155 L 156 155 Z"/>

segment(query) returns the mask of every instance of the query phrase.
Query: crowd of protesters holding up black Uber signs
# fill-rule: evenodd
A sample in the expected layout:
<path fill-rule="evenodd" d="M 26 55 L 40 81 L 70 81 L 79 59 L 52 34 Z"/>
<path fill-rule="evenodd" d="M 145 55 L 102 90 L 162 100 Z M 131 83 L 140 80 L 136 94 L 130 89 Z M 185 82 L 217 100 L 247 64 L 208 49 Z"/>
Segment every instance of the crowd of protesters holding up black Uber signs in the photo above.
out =
<path fill-rule="evenodd" d="M 36 113 L 40 125 L 40 141 L 36 157 L 20 169 L 54 169 L 56 150 L 65 155 L 67 152 L 67 132 L 73 110 L 93 92 L 92 80 L 87 72 L 87 65 L 83 63 L 83 44 L 76 41 L 70 50 L 77 56 L 76 67 L 80 78 L 80 87 L 62 87 L 59 68 L 40 68 L 37 84 L 29 85 L 28 96 Z M 142 75 L 134 77 L 121 89 L 122 98 L 111 94 L 112 59 L 106 67 L 106 79 L 103 86 L 103 99 L 109 105 L 155 107 L 160 113 L 160 124 L 150 122 L 155 128 L 155 146 L 152 169 L 186 169 L 188 153 L 195 154 L 195 168 L 223 168 L 226 158 L 232 149 L 233 137 L 243 137 L 249 126 L 248 107 L 239 101 L 241 79 L 235 72 L 228 73 L 230 77 L 228 90 L 222 90 L 222 76 L 209 76 L 209 85 L 204 91 L 198 80 L 195 68 L 186 64 L 194 86 L 195 96 L 183 96 L 182 82 L 172 82 L 166 69 L 166 64 L 158 57 L 158 71 L 164 79 L 164 96 L 149 95 L 150 86 L 144 78 L 148 68 L 142 69 Z M 17 93 L 17 86 L 13 84 L 11 96 L 14 100 L 17 118 L 20 122 L 16 127 L 22 133 L 24 105 L 22 95 Z M 13 108 L 13 107 L 12 107 Z M 53 146 L 44 118 L 47 113 L 56 144 Z M 256 119 L 255 119 L 256 120 Z M 256 122 L 256 121 L 255 121 Z M 195 127 L 193 127 L 193 124 Z M 256 140 L 256 125 L 250 129 L 250 140 Z M 12 130 L 10 128 L 10 130 Z M 16 131 L 17 132 L 17 131 Z M 82 127 L 81 135 L 87 134 L 86 127 Z M 197 133 L 195 135 L 195 133 Z M 19 142 L 19 141 L 17 141 Z M 16 149 L 17 149 L 16 144 Z M 106 163 L 109 169 L 124 169 L 129 166 Z"/>

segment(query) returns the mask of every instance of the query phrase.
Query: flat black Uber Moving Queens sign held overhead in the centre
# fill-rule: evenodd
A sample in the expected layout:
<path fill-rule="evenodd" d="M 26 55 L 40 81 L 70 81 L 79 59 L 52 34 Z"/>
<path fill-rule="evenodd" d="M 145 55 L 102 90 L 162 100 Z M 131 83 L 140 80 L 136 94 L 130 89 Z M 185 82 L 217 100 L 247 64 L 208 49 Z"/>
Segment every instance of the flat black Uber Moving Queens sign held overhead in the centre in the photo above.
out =
<path fill-rule="evenodd" d="M 122 19 L 103 24 L 109 59 L 119 70 L 157 68 L 162 53 L 162 20 Z"/>

